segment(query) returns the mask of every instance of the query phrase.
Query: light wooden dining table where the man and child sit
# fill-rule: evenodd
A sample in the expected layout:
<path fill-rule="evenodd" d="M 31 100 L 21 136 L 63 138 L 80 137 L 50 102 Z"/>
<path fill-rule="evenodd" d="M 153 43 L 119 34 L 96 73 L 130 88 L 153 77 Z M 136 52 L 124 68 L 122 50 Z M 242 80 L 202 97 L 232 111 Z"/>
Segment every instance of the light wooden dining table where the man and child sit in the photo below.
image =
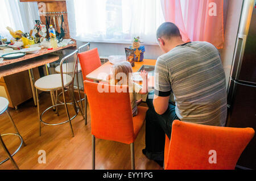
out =
<path fill-rule="evenodd" d="M 144 59 L 142 62 L 135 62 L 135 66 L 133 67 L 133 72 L 138 71 L 142 65 L 155 65 L 156 60 Z M 110 74 L 110 69 L 112 68 L 113 64 L 110 62 L 106 62 L 105 64 L 101 65 L 96 70 L 92 71 L 86 78 L 92 79 L 94 82 L 102 81 L 108 82 L 106 78 Z M 148 77 L 148 87 L 154 88 L 154 76 Z"/>

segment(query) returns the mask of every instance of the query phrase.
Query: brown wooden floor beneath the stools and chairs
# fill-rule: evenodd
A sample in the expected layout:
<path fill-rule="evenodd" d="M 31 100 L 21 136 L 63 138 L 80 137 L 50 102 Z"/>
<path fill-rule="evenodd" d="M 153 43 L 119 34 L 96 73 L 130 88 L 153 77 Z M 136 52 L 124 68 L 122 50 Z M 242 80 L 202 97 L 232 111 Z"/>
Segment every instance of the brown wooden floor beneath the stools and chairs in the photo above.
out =
<path fill-rule="evenodd" d="M 51 106 L 49 93 L 40 94 L 40 110 Z M 69 108 L 72 110 L 72 107 Z M 84 124 L 82 116 L 78 115 L 72 120 L 75 137 L 72 137 L 68 124 L 50 127 L 42 126 L 42 136 L 39 137 L 39 123 L 37 109 L 29 100 L 19 106 L 15 111 L 9 108 L 10 114 L 18 127 L 26 146 L 14 155 L 19 169 L 91 169 L 92 163 L 92 136 L 90 133 L 90 119 L 88 125 Z M 58 117 L 52 110 L 46 113 L 44 120 L 48 123 L 60 123 L 66 119 L 64 107 L 59 108 Z M 72 112 L 74 113 L 74 112 Z M 88 118 L 89 118 L 88 110 Z M 6 115 L 0 115 L 0 133 L 14 133 L 14 129 Z M 142 154 L 144 148 L 145 126 L 143 126 L 135 141 L 135 169 L 162 169 L 154 161 L 150 161 Z M 17 148 L 19 138 L 4 136 L 3 141 L 11 153 Z M 46 151 L 46 163 L 38 163 L 39 150 Z M 0 161 L 6 154 L 0 147 Z M 130 169 L 130 145 L 114 141 L 99 140 L 96 138 L 96 169 Z M 10 161 L 0 165 L 0 169 L 14 169 Z"/>

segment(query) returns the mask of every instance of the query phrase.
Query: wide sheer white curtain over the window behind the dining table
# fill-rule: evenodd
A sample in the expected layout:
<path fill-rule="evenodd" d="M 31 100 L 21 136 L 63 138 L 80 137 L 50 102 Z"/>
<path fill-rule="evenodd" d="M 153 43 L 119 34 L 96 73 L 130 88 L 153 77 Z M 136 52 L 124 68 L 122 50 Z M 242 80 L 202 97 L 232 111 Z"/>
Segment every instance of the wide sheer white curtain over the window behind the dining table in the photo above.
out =
<path fill-rule="evenodd" d="M 71 36 L 77 40 L 156 44 L 164 22 L 160 0 L 67 0 Z"/>

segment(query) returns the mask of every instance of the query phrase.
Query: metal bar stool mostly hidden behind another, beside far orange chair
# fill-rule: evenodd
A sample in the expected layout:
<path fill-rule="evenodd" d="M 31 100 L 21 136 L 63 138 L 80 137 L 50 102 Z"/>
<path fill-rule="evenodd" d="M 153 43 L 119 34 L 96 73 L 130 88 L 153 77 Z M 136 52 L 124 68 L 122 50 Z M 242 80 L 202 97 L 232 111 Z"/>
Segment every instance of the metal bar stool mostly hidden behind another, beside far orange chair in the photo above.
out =
<path fill-rule="evenodd" d="M 78 53 L 82 53 L 82 52 L 86 52 L 90 49 L 90 43 L 86 43 L 84 45 L 82 45 L 81 47 L 79 47 L 77 50 L 78 50 Z M 68 71 L 67 69 L 65 69 L 66 65 L 63 64 L 63 73 L 64 74 L 67 74 Z M 56 66 L 55 68 L 55 71 L 56 73 L 60 73 L 60 65 Z M 82 87 L 80 88 L 79 86 L 79 76 L 78 74 L 81 75 L 81 79 L 83 80 L 82 78 L 82 69 L 81 69 L 81 65 L 80 65 L 80 62 L 77 62 L 77 73 L 76 73 L 76 79 L 77 79 L 77 90 L 79 91 L 79 103 L 81 103 L 81 108 L 82 110 L 84 110 L 84 107 L 82 106 L 82 101 L 85 100 L 85 109 L 86 109 L 86 94 L 84 93 L 84 98 L 81 99 L 81 94 L 80 94 L 80 91 L 83 91 L 84 92 L 84 83 L 82 83 Z M 67 90 L 66 90 L 67 91 Z M 60 103 L 63 103 L 59 100 L 59 96 L 62 94 L 63 92 L 60 92 L 59 95 L 57 95 L 57 102 L 60 102 Z M 87 124 L 87 110 L 84 110 L 82 113 L 84 113 L 84 117 L 85 117 L 85 125 Z"/>

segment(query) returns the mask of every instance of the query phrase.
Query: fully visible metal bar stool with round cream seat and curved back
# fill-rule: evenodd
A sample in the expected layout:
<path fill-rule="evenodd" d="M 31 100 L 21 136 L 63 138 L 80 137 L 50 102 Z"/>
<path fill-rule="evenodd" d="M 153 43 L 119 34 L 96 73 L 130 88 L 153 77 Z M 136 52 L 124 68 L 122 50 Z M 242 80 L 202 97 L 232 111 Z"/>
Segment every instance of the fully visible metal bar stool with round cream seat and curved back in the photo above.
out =
<path fill-rule="evenodd" d="M 55 126 L 55 125 L 69 123 L 71 132 L 72 132 L 72 136 L 74 136 L 71 120 L 73 120 L 78 115 L 79 110 L 81 111 L 81 108 L 75 98 L 75 92 L 74 92 L 74 79 L 75 79 L 75 74 L 77 71 L 77 52 L 78 51 L 76 50 L 75 52 L 69 54 L 68 56 L 64 57 L 60 61 L 60 74 L 47 75 L 45 77 L 38 79 L 38 81 L 35 82 L 36 101 L 38 104 L 39 136 L 41 136 L 41 123 L 43 123 L 44 125 L 49 125 L 49 126 Z M 64 64 L 65 64 L 65 70 L 67 70 L 67 73 L 63 72 Z M 46 110 L 44 110 L 42 112 L 42 114 L 40 114 L 38 90 L 51 92 L 51 94 L 53 94 L 53 100 L 55 102 L 55 105 L 48 107 Z M 63 92 L 64 103 L 57 104 L 57 91 L 58 90 L 62 90 L 62 92 Z M 72 103 L 67 103 L 67 100 L 66 100 L 65 94 L 64 94 L 65 91 L 69 92 L 70 99 L 71 99 Z M 56 96 L 54 95 L 54 92 L 56 92 Z M 65 107 L 65 111 L 67 113 L 68 120 L 65 120 L 62 123 L 57 123 L 57 124 L 50 124 L 50 123 L 46 123 L 46 121 L 43 121 L 42 117 L 43 117 L 44 113 L 46 113 L 51 108 L 55 107 L 56 113 L 59 115 L 57 107 L 63 106 L 63 105 Z M 73 106 L 73 109 L 75 110 L 75 113 L 76 113 L 75 116 L 71 117 L 69 115 L 67 105 Z M 83 114 L 82 114 L 82 116 L 84 117 Z"/>

